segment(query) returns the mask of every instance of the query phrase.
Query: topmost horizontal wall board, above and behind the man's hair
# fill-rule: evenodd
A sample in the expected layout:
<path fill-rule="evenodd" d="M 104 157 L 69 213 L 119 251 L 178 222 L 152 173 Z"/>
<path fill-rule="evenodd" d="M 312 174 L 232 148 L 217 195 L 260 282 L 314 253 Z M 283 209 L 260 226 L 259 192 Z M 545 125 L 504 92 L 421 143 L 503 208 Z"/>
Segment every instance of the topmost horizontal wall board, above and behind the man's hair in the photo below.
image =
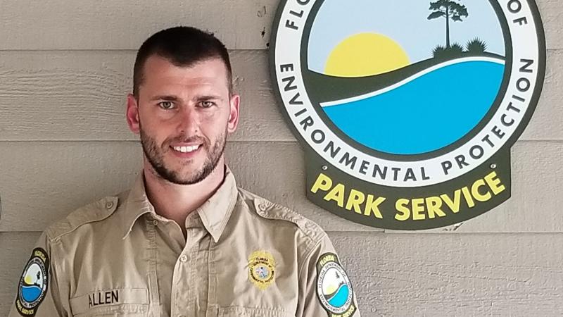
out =
<path fill-rule="evenodd" d="M 562 1 L 536 2 L 548 47 L 563 48 Z M 213 31 L 231 49 L 265 49 L 278 4 L 279 0 L 5 0 L 0 6 L 0 49 L 137 49 L 153 32 L 173 25 Z"/>

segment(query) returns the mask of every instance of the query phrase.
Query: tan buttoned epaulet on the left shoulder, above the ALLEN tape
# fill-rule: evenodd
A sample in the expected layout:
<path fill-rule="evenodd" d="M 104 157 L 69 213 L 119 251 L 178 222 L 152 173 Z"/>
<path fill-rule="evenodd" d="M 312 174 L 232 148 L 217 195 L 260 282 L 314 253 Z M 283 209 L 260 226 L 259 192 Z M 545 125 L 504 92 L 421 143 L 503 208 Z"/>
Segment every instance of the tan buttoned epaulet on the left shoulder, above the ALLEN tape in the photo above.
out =
<path fill-rule="evenodd" d="M 49 241 L 58 239 L 63 235 L 76 230 L 81 225 L 93 223 L 108 218 L 118 207 L 119 198 L 108 196 L 98 201 L 91 202 L 86 206 L 72 211 L 66 218 L 53 223 L 46 230 Z"/>

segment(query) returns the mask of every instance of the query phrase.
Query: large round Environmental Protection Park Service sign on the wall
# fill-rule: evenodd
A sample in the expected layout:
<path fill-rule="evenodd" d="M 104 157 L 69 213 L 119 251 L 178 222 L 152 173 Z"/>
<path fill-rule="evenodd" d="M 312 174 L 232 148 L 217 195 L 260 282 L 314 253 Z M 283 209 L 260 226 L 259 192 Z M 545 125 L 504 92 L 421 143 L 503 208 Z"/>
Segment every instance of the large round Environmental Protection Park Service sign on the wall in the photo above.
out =
<path fill-rule="evenodd" d="M 270 51 L 318 206 L 417 230 L 510 198 L 545 74 L 533 0 L 282 0 Z"/>

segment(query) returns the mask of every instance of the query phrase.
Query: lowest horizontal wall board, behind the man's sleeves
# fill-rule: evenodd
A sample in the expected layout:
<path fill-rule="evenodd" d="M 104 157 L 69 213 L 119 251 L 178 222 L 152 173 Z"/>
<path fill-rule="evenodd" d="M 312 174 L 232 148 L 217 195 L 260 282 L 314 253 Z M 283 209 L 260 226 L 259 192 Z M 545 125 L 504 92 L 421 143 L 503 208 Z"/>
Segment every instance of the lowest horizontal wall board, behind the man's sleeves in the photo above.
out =
<path fill-rule="evenodd" d="M 329 232 L 362 316 L 561 316 L 562 234 Z M 0 232 L 6 316 L 39 232 Z"/>

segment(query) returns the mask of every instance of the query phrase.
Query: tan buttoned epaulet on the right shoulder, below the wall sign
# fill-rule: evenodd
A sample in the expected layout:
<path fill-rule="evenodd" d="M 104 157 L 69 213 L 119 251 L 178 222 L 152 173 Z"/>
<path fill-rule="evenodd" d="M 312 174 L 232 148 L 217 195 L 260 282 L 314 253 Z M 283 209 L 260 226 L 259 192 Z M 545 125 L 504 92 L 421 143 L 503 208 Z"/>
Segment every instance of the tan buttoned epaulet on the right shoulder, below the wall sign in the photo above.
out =
<path fill-rule="evenodd" d="M 239 188 L 239 192 L 253 201 L 253 209 L 258 216 L 271 220 L 285 220 L 296 225 L 303 234 L 310 239 L 310 244 L 317 244 L 327 233 L 314 221 L 301 216 L 286 206 L 276 204 L 256 194 Z"/>

